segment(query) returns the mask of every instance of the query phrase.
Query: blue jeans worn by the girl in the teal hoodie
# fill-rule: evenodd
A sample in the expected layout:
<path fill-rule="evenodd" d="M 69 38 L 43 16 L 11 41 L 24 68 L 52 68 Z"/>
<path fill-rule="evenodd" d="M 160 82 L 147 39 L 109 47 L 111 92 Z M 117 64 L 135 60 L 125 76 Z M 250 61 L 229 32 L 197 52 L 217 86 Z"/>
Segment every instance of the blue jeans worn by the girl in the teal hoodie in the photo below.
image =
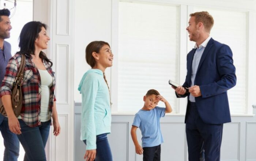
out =
<path fill-rule="evenodd" d="M 86 144 L 86 140 L 83 141 Z M 113 161 L 107 134 L 96 136 L 96 158 L 95 161 Z"/>

